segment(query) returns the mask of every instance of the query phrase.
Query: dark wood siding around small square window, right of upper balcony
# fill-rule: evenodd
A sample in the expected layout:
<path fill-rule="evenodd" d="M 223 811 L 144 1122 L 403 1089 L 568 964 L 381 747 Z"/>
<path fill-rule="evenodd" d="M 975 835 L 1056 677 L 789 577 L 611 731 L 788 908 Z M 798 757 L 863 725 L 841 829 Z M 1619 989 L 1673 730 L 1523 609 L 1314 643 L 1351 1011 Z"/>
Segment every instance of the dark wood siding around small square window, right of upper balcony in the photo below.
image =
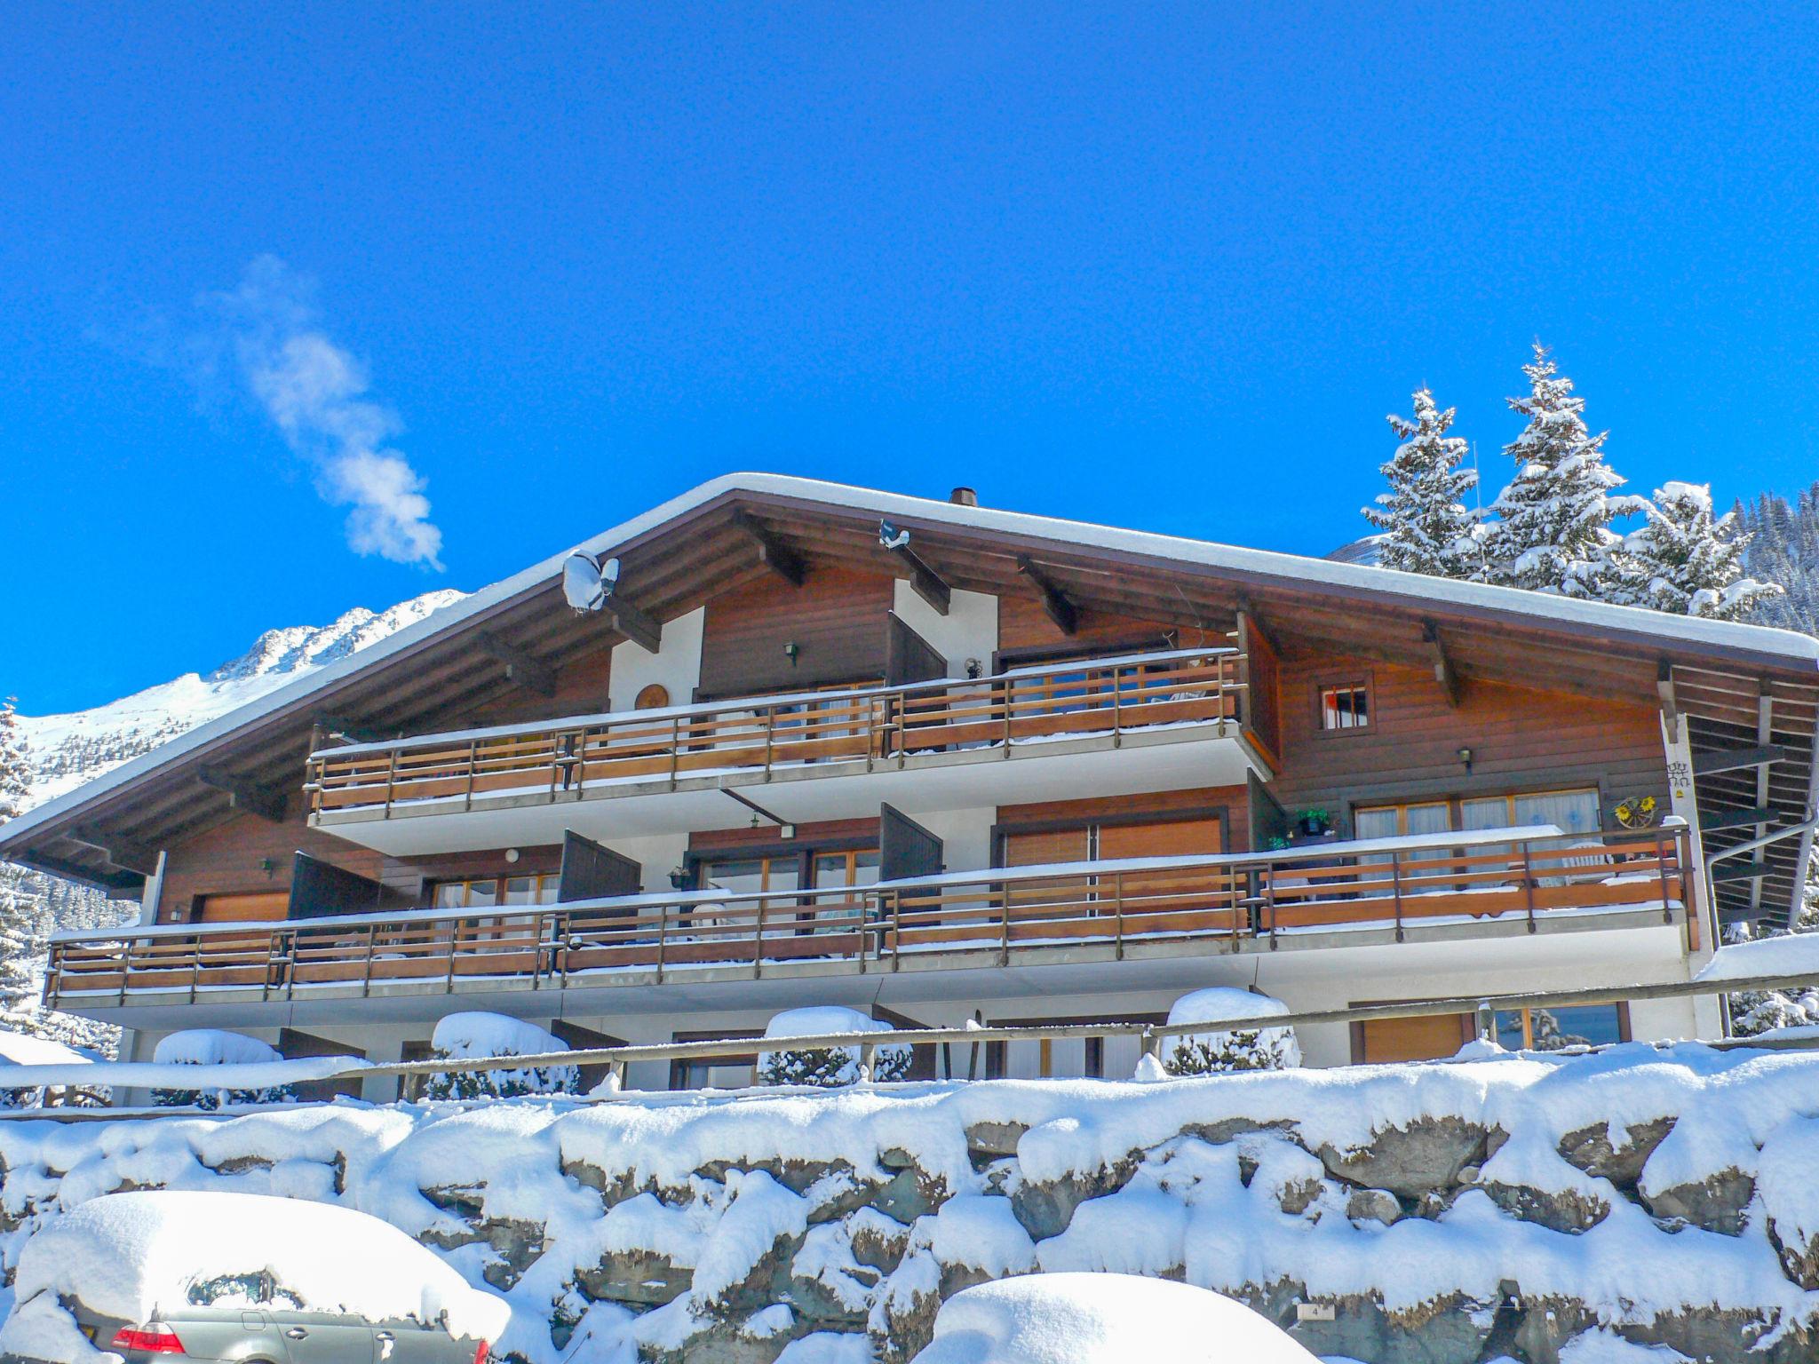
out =
<path fill-rule="evenodd" d="M 1368 678 L 1368 727 L 1321 731 L 1319 687 L 1335 678 Z M 1653 697 L 1624 704 L 1473 678 L 1453 709 L 1432 671 L 1333 657 L 1284 664 L 1281 700 L 1271 795 L 1290 815 L 1317 806 L 1350 827 L 1361 800 L 1597 786 L 1608 822 L 1623 797 L 1666 797 Z M 1461 747 L 1472 749 L 1470 773 Z"/>

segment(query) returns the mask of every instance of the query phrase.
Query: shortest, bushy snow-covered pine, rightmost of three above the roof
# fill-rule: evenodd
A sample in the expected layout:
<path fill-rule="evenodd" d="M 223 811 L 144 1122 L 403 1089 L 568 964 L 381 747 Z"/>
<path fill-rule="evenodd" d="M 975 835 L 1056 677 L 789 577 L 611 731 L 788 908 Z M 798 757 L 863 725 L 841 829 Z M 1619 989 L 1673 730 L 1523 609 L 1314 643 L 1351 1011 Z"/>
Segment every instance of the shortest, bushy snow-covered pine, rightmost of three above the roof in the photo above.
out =
<path fill-rule="evenodd" d="M 1606 600 L 1710 620 L 1748 620 L 1763 598 L 1781 595 L 1774 582 L 1744 575 L 1750 535 L 1737 529 L 1735 511 L 1712 517 L 1710 486 L 1663 484 L 1644 513 L 1648 520 L 1612 555 Z"/>

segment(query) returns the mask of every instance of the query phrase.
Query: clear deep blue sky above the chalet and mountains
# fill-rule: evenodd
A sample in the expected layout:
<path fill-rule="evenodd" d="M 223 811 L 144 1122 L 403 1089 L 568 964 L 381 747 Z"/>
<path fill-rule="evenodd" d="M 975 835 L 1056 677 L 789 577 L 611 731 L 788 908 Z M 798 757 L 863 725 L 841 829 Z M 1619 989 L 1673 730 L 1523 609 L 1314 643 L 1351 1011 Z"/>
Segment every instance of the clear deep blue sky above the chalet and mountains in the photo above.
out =
<path fill-rule="evenodd" d="M 1535 336 L 1635 491 L 1812 482 L 1812 7 L 1502 9 L 15 5 L 0 693 L 735 467 L 1324 553 Z"/>

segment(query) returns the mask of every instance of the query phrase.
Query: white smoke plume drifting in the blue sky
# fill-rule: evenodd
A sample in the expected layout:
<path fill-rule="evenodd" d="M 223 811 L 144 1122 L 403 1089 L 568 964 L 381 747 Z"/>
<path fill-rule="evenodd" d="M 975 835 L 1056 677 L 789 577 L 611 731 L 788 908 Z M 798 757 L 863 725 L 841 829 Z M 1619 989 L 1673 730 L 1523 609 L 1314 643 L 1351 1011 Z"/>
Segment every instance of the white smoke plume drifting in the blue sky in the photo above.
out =
<path fill-rule="evenodd" d="M 329 340 L 307 278 L 276 256 L 246 267 L 233 293 L 204 306 L 227 329 L 231 362 L 284 440 L 317 475 L 317 491 L 347 513 L 358 555 L 440 569 L 442 531 L 424 478 L 389 440 L 398 418 L 371 396 L 366 367 Z"/>

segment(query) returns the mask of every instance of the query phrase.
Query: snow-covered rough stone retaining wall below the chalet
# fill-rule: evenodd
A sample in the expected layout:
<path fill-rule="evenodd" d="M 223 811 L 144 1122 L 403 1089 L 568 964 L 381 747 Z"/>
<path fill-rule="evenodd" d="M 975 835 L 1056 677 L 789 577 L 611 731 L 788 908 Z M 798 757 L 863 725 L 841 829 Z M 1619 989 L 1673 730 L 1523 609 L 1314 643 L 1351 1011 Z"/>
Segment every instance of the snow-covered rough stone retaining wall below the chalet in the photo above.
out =
<path fill-rule="evenodd" d="M 1184 1279 L 1368 1364 L 1557 1364 L 1588 1333 L 1819 1357 L 1804 1053 L 5 1122 L 0 1160 L 9 1271 L 113 1189 L 331 1200 L 500 1289 L 498 1348 L 529 1364 L 578 1335 L 575 1359 L 793 1364 L 844 1337 L 897 1364 L 940 1300 L 1035 1269 Z"/>

